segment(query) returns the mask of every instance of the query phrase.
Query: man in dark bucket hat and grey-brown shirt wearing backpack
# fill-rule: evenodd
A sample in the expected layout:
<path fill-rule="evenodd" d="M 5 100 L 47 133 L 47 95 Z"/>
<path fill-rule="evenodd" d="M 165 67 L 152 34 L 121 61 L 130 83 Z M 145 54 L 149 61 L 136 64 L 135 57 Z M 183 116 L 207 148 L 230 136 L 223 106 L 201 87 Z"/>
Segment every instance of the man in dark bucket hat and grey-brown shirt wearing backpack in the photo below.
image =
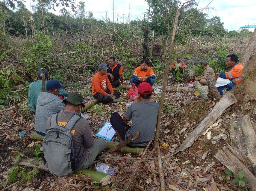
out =
<path fill-rule="evenodd" d="M 57 114 L 57 125 L 65 128 L 69 119 L 73 115 L 80 115 L 79 111 L 84 108 L 83 96 L 79 93 L 72 92 L 62 101 L 65 104 L 65 110 Z M 51 117 L 46 122 L 46 132 L 51 127 Z M 73 148 L 75 154 L 75 169 L 87 168 L 93 164 L 96 156 L 106 145 L 106 141 L 102 138 L 93 139 L 91 128 L 87 119 L 81 117 L 75 122 L 71 130 Z"/>

